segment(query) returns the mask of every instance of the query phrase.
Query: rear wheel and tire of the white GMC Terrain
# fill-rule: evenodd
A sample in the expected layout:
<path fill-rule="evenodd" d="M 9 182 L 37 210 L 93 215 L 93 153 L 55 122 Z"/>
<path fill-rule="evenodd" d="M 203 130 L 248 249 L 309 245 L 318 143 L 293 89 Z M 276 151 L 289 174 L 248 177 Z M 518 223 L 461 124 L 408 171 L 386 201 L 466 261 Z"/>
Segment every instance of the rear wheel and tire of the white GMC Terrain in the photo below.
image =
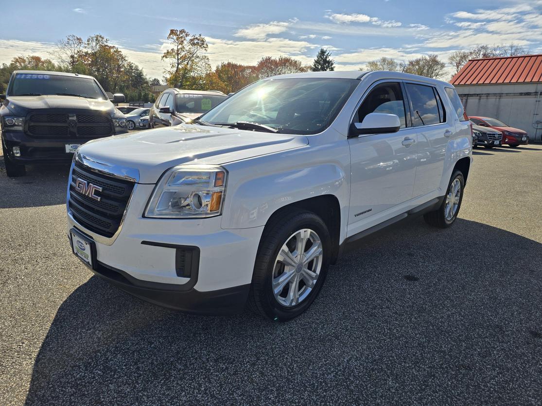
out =
<path fill-rule="evenodd" d="M 457 190 L 458 184 L 459 191 Z M 444 196 L 442 204 L 435 211 L 423 215 L 425 222 L 439 228 L 447 228 L 454 224 L 459 209 L 461 208 L 461 202 L 463 201 L 464 187 L 465 180 L 463 178 L 463 173 L 461 171 L 455 171 L 454 174 L 451 175 L 447 194 Z"/>

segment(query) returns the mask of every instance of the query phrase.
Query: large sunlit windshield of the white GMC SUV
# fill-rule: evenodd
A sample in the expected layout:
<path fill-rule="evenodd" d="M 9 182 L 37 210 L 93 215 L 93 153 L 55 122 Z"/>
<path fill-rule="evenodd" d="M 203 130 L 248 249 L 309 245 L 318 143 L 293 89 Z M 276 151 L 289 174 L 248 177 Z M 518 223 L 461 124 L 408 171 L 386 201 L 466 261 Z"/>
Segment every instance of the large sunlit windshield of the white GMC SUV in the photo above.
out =
<path fill-rule="evenodd" d="M 279 133 L 317 134 L 330 126 L 358 84 L 358 80 L 340 78 L 262 80 L 231 96 L 201 120 L 216 125 L 248 121 Z"/>

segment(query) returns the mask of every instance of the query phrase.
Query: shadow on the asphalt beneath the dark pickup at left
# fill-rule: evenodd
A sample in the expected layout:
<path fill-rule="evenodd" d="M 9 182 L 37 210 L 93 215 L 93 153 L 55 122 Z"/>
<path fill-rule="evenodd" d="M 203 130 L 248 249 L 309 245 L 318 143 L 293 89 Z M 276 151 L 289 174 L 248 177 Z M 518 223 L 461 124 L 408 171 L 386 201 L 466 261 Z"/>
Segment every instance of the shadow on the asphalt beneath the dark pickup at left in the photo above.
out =
<path fill-rule="evenodd" d="M 8 178 L 0 155 L 0 208 L 39 207 L 66 203 L 69 164 L 27 166 L 27 174 Z"/>

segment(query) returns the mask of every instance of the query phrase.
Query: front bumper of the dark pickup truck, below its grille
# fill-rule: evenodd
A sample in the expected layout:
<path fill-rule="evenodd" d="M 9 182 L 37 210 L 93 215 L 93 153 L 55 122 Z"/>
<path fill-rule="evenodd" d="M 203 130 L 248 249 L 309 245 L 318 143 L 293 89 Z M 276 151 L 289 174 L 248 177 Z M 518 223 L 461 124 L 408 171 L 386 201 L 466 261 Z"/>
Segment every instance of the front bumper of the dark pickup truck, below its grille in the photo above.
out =
<path fill-rule="evenodd" d="M 73 153 L 66 152 L 66 145 L 78 145 L 95 138 L 33 138 L 24 132 L 2 132 L 2 143 L 11 161 L 21 164 L 70 162 Z M 21 149 L 21 156 L 12 153 L 13 147 Z"/>

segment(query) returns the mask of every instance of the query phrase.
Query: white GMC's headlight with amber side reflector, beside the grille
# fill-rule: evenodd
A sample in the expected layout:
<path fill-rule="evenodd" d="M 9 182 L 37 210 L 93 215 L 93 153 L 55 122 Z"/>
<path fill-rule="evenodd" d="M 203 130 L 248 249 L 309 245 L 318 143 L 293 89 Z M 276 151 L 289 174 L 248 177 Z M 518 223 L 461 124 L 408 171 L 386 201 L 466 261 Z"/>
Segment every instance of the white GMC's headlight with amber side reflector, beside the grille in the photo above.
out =
<path fill-rule="evenodd" d="M 222 214 L 227 172 L 214 165 L 179 165 L 152 192 L 145 217 L 202 218 Z"/>

